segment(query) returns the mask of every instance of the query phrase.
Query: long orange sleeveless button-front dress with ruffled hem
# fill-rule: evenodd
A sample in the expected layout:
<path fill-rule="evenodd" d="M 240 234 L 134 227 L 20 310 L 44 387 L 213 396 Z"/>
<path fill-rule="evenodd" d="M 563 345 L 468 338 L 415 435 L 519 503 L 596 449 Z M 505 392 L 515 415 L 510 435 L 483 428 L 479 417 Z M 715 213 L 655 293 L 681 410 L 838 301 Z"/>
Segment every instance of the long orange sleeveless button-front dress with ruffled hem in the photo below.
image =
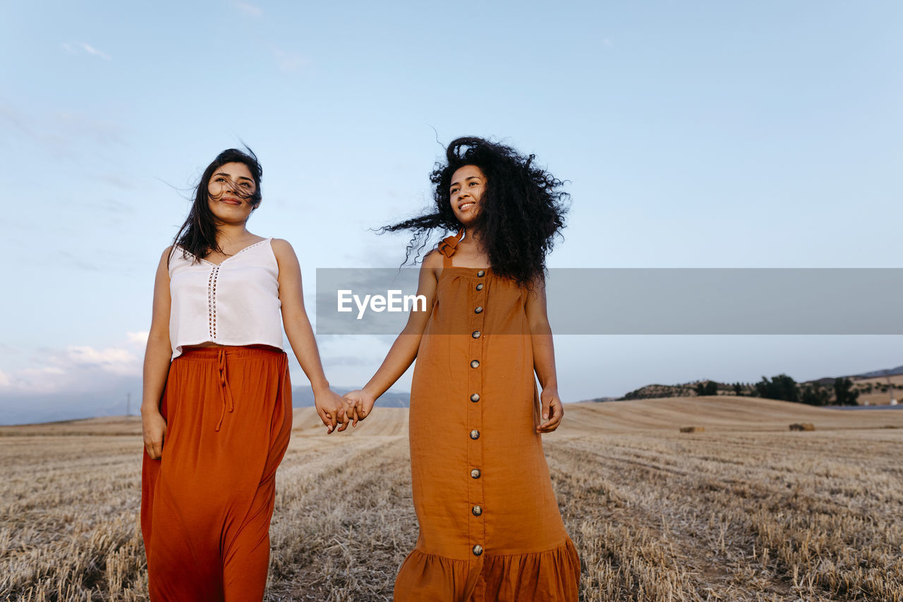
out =
<path fill-rule="evenodd" d="M 420 535 L 396 602 L 576 601 L 580 559 L 543 454 L 525 288 L 489 269 L 442 275 L 411 389 Z"/>

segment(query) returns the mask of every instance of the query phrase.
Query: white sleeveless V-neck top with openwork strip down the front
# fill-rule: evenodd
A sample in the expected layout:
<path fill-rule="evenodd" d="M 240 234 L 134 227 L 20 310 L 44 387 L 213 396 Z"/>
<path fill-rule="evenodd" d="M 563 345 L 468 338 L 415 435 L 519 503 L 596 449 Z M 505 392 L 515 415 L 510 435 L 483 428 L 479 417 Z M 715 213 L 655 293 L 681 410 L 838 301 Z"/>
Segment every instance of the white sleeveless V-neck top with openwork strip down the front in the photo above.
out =
<path fill-rule="evenodd" d="M 279 264 L 273 239 L 261 240 L 219 265 L 182 258 L 173 247 L 170 259 L 170 343 L 172 359 L 186 345 L 265 344 L 283 348 Z"/>

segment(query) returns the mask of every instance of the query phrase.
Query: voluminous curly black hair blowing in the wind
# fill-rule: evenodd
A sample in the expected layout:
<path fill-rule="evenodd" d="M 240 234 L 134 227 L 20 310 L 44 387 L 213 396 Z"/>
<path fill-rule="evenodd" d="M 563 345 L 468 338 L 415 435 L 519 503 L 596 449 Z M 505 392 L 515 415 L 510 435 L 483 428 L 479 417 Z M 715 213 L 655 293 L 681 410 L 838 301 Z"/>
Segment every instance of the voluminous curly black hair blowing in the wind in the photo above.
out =
<path fill-rule="evenodd" d="M 554 236 L 564 227 L 568 193 L 564 182 L 533 165 L 535 155 L 520 155 L 510 146 L 484 138 L 465 136 L 452 141 L 445 162 L 438 162 L 430 174 L 433 183 L 433 212 L 384 226 L 380 232 L 412 230 L 414 236 L 405 249 L 405 265 L 414 252 L 414 263 L 433 230 L 455 231 L 461 222 L 452 212 L 452 174 L 464 165 L 476 165 L 486 175 L 486 190 L 480 200 L 478 230 L 489 256 L 489 266 L 502 277 L 528 285 L 545 276 L 545 256 L 552 250 Z"/>

